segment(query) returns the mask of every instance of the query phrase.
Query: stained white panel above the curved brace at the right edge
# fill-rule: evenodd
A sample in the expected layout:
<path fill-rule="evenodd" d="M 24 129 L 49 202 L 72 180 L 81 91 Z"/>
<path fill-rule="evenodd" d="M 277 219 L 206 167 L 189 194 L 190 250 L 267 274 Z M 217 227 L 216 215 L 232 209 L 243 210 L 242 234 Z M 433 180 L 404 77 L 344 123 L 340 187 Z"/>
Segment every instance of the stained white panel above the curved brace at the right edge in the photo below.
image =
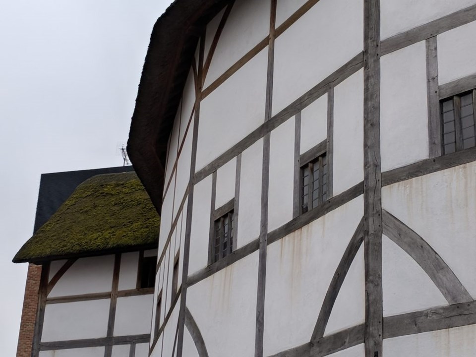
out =
<path fill-rule="evenodd" d="M 383 187 L 382 206 L 425 239 L 476 297 L 476 162 Z"/>

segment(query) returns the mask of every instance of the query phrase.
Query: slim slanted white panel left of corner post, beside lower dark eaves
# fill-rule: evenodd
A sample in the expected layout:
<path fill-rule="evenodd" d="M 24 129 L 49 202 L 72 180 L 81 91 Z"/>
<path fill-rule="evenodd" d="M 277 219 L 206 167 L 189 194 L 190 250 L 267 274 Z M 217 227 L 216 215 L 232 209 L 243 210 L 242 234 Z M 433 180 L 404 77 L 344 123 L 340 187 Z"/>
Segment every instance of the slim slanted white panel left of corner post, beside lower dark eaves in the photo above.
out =
<path fill-rule="evenodd" d="M 192 160 L 192 141 L 193 141 L 193 122 L 190 124 L 187 136 L 183 142 L 183 148 L 180 152 L 179 162 L 177 163 L 177 183 L 175 192 L 174 203 L 174 216 L 177 216 L 180 203 L 182 202 L 183 195 L 187 189 L 188 181 L 190 180 L 190 163 Z"/>

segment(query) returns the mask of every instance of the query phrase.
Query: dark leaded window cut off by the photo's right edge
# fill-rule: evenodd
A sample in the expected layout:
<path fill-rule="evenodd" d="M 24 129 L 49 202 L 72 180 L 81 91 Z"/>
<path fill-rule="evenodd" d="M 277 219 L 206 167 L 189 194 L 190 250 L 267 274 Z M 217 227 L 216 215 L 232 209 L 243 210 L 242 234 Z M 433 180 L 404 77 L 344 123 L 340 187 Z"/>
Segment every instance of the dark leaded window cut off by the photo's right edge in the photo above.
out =
<path fill-rule="evenodd" d="M 443 154 L 476 146 L 476 89 L 441 101 Z"/>

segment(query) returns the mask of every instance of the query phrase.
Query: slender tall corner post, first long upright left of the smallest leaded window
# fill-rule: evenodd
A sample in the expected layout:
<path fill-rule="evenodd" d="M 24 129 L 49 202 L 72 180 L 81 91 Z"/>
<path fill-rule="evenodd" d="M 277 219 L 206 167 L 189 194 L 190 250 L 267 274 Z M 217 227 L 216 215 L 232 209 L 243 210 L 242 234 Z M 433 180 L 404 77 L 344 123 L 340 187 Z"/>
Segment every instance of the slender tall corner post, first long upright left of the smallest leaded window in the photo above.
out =
<path fill-rule="evenodd" d="M 203 78 L 203 54 L 205 51 L 205 35 L 200 38 L 199 58 L 198 58 L 198 81 L 195 98 L 195 118 L 193 119 L 193 135 L 192 135 L 192 156 L 190 159 L 190 176 L 188 178 L 188 204 L 187 215 L 185 220 L 185 239 L 183 242 L 183 265 L 182 265 L 182 282 L 180 295 L 179 310 L 179 333 L 177 337 L 177 357 L 182 357 L 183 352 L 183 329 L 185 326 L 185 308 L 187 297 L 187 277 L 188 277 L 188 261 L 190 257 L 190 231 L 192 225 L 192 208 L 193 208 L 193 192 L 195 185 L 193 177 L 195 175 L 197 161 L 197 139 L 198 139 L 198 123 L 200 119 L 200 98 L 202 97 L 202 78 Z"/>

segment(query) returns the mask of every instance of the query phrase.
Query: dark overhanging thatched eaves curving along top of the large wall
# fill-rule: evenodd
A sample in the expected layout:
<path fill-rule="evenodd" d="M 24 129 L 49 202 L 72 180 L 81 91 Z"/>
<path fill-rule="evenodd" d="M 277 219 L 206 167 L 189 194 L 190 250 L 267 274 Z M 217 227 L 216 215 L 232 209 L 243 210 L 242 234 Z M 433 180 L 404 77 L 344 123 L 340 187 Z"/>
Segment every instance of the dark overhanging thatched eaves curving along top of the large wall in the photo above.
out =
<path fill-rule="evenodd" d="M 167 142 L 199 36 L 230 0 L 176 0 L 157 20 L 142 69 L 127 152 L 160 213 Z"/>

